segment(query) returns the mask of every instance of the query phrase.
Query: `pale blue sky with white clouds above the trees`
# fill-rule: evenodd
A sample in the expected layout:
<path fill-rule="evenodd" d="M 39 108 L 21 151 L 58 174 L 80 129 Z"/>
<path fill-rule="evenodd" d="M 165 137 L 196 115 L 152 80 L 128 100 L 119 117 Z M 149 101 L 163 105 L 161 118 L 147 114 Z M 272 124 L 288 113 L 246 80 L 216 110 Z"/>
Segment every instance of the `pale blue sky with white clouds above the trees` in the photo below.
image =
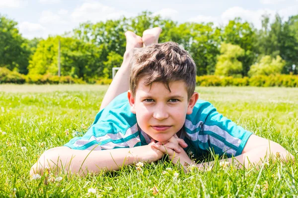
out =
<path fill-rule="evenodd" d="M 18 22 L 21 34 L 32 39 L 71 31 L 81 22 L 136 16 L 151 11 L 180 23 L 226 24 L 237 16 L 260 28 L 262 14 L 285 20 L 298 14 L 298 0 L 0 0 L 0 14 Z"/>

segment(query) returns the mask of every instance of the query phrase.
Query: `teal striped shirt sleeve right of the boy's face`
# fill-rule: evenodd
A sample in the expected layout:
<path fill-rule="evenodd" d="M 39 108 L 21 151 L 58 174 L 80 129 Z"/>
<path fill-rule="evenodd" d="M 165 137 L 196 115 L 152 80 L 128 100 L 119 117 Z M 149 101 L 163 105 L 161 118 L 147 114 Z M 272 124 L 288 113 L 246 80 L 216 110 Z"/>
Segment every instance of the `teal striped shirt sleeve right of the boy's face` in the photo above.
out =
<path fill-rule="evenodd" d="M 252 134 L 217 112 L 207 101 L 199 100 L 194 112 L 186 117 L 186 138 L 198 149 L 237 156 Z"/>

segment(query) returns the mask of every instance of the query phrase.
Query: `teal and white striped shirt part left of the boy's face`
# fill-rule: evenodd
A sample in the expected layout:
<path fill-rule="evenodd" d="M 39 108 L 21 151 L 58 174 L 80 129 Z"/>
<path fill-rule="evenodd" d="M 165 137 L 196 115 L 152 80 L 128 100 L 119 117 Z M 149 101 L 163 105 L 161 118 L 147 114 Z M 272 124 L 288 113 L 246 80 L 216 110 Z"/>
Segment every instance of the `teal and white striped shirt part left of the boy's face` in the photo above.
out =
<path fill-rule="evenodd" d="M 126 96 L 127 93 L 124 93 L 111 101 L 96 115 L 93 125 L 82 137 L 75 137 L 64 146 L 80 150 L 141 146 L 137 119 L 130 111 Z"/>

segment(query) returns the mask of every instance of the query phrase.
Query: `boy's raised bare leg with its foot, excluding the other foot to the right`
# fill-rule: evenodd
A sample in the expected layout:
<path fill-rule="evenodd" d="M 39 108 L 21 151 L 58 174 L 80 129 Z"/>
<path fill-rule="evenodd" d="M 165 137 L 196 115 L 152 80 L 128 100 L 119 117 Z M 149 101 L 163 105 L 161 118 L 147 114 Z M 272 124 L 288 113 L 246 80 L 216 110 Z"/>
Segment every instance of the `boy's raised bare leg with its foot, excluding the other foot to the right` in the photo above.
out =
<path fill-rule="evenodd" d="M 126 36 L 126 51 L 123 55 L 123 62 L 115 75 L 111 85 L 106 92 L 101 105 L 100 110 L 105 108 L 110 101 L 112 101 L 116 96 L 129 90 L 129 73 L 130 73 L 130 60 L 132 56 L 132 50 L 134 48 L 142 48 L 143 42 L 142 37 L 136 35 L 131 31 L 125 33 Z"/>

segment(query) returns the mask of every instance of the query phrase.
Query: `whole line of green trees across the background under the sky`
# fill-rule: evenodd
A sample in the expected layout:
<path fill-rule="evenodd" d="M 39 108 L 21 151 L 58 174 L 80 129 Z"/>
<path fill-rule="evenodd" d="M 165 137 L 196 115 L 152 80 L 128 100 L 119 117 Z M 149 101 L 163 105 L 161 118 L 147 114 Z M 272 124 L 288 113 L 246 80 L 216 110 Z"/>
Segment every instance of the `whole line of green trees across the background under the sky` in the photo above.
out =
<path fill-rule="evenodd" d="M 0 15 L 0 67 L 21 74 L 58 73 L 61 42 L 61 74 L 92 81 L 111 78 L 125 52 L 124 33 L 138 35 L 159 26 L 159 42 L 174 41 L 188 50 L 197 75 L 245 77 L 275 73 L 298 74 L 298 15 L 283 20 L 276 14 L 270 22 L 264 14 L 262 28 L 235 18 L 224 26 L 213 23 L 179 24 L 144 11 L 136 17 L 97 23 L 81 23 L 73 31 L 47 39 L 22 37 L 17 22 Z"/>

